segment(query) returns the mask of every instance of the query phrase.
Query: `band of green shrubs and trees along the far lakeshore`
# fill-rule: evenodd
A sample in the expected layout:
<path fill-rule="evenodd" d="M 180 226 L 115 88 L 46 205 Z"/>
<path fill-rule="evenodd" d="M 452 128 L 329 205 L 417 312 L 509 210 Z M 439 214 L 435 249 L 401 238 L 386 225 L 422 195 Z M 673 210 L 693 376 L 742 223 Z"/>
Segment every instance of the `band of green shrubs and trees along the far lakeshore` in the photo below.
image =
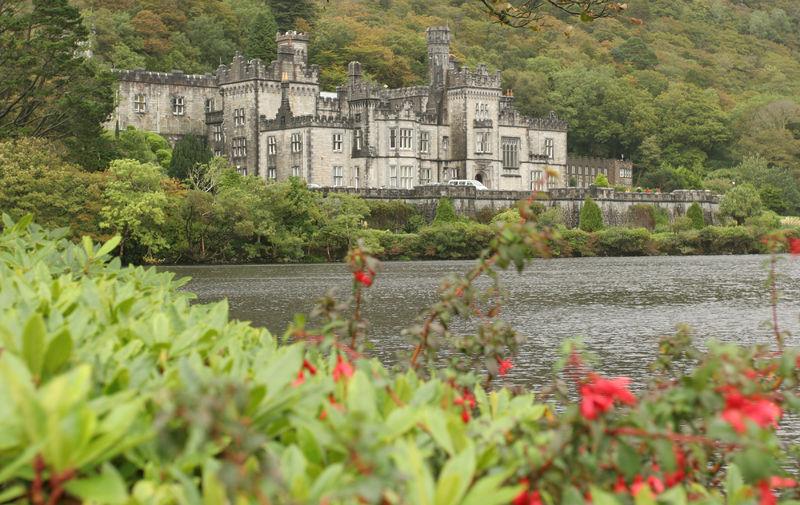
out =
<path fill-rule="evenodd" d="M 359 241 L 381 260 L 475 259 L 501 224 L 520 220 L 518 209 L 467 219 L 448 199 L 425 216 L 402 201 L 323 197 L 300 179 L 242 176 L 221 158 L 194 163 L 177 178 L 156 161 L 118 159 L 106 171 L 86 172 L 61 155 L 43 140 L 0 142 L 0 209 L 68 228 L 73 240 L 120 235 L 116 253 L 126 263 L 330 262 Z M 561 211 L 545 203 L 533 204 L 531 219 L 552 229 L 552 257 L 755 254 L 769 251 L 764 239 L 775 231 L 800 236 L 800 219 L 764 210 L 746 185 L 723 197 L 721 226 L 706 226 L 699 208 L 670 223 L 657 207 L 634 205 L 628 226 L 604 228 L 587 200 L 579 228 L 567 229 Z"/>

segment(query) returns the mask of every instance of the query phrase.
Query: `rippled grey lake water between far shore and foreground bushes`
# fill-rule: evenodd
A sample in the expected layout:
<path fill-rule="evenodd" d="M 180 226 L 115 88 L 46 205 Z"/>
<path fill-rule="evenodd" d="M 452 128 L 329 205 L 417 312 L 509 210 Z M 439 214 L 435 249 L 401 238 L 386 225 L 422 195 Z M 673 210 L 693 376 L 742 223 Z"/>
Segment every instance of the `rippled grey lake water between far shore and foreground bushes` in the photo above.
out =
<path fill-rule="evenodd" d="M 508 382 L 546 381 L 560 344 L 583 337 L 609 375 L 641 384 L 661 335 L 679 323 L 699 341 L 771 343 L 766 256 L 570 258 L 533 262 L 503 275 L 510 300 L 504 317 L 524 336 Z M 396 262 L 381 266 L 367 290 L 371 351 L 392 363 L 408 349 L 401 330 L 434 300 L 440 279 L 466 271 L 469 261 Z M 308 312 L 328 290 L 348 295 L 351 274 L 342 264 L 170 267 L 190 276 L 199 301 L 227 298 L 233 317 L 280 334 L 295 313 Z M 800 345 L 800 259 L 781 258 L 780 324 Z M 457 326 L 458 328 L 458 326 Z M 467 323 L 460 326 L 468 328 Z"/>

